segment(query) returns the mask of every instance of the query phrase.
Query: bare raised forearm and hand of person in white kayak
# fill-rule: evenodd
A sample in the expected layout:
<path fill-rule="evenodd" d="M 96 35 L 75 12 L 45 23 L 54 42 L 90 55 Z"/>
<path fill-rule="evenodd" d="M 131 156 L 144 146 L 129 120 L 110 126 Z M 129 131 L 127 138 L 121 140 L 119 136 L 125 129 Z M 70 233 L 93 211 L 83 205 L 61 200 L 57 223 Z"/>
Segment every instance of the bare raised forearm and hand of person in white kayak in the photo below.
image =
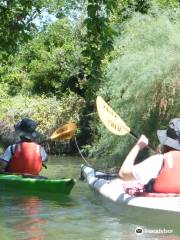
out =
<path fill-rule="evenodd" d="M 126 159 L 124 160 L 120 170 L 119 170 L 119 176 L 123 180 L 135 180 L 133 174 L 132 174 L 132 168 L 134 166 L 135 159 L 139 153 L 139 151 L 143 148 L 145 148 L 148 145 L 148 139 L 146 136 L 141 135 L 137 143 L 134 145 L 134 147 L 131 149 L 131 151 L 128 153 Z"/>

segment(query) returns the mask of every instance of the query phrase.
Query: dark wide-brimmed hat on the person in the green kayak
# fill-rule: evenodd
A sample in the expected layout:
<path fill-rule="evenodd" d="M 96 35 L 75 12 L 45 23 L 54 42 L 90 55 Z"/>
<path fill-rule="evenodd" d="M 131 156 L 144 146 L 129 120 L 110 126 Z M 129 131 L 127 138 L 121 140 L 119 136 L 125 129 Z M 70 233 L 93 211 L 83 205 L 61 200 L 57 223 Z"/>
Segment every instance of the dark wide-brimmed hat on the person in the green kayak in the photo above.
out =
<path fill-rule="evenodd" d="M 23 118 L 20 122 L 14 125 L 15 131 L 20 137 L 30 140 L 39 138 L 40 133 L 36 131 L 37 123 L 30 118 Z"/>

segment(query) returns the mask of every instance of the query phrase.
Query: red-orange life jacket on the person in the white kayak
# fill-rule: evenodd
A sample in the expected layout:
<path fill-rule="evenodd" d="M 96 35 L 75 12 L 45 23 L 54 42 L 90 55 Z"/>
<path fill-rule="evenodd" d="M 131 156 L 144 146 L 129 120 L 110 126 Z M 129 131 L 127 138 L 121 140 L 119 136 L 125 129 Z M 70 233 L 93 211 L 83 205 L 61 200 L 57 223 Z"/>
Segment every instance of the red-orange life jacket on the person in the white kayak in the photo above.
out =
<path fill-rule="evenodd" d="M 153 184 L 158 193 L 180 193 L 180 151 L 164 154 L 163 167 Z"/>

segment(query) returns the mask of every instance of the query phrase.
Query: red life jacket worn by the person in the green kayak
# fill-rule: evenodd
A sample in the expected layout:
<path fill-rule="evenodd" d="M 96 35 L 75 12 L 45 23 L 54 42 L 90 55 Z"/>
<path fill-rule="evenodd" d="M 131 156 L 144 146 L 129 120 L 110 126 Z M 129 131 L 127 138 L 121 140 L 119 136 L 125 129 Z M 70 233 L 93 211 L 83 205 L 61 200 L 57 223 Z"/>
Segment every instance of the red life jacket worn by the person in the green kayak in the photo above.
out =
<path fill-rule="evenodd" d="M 41 146 L 34 142 L 21 142 L 16 145 L 6 171 L 38 175 L 41 168 Z"/>

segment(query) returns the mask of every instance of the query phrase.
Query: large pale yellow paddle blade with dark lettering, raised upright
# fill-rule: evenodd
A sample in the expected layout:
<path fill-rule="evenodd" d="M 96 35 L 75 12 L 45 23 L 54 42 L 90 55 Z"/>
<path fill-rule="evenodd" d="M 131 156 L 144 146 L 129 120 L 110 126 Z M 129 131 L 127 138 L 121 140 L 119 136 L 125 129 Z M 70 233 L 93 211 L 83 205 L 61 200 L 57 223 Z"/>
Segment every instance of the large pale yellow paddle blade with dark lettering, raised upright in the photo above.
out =
<path fill-rule="evenodd" d="M 96 99 L 98 115 L 106 128 L 116 134 L 125 135 L 130 132 L 130 128 L 117 115 L 116 112 L 100 96 Z"/>

